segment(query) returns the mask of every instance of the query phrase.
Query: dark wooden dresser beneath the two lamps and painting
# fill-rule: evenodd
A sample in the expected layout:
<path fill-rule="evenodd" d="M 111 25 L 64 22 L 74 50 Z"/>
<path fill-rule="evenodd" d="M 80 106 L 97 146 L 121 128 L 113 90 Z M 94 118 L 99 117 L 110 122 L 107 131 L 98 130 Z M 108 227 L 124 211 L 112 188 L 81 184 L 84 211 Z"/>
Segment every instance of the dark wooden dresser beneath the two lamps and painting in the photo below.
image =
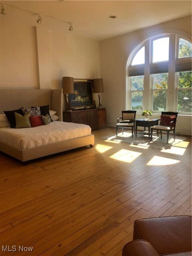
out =
<path fill-rule="evenodd" d="M 87 124 L 92 130 L 106 127 L 106 108 L 63 111 L 63 122 Z"/>

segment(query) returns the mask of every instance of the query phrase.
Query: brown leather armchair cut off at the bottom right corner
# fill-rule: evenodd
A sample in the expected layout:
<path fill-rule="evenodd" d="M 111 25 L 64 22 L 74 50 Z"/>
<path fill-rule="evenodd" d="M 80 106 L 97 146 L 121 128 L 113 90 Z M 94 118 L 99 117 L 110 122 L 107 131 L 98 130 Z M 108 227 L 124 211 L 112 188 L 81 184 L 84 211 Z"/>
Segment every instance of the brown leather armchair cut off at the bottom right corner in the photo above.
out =
<path fill-rule="evenodd" d="M 191 216 L 148 218 L 134 222 L 133 241 L 122 256 L 190 256 Z"/>

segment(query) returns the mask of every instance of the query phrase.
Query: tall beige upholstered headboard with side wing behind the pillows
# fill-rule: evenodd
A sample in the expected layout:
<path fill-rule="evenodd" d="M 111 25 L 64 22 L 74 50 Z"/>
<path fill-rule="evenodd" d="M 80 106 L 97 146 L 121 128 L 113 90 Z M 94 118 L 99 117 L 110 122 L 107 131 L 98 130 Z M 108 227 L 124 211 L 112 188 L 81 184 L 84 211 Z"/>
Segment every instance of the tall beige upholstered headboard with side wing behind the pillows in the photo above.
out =
<path fill-rule="evenodd" d="M 3 114 L 4 110 L 49 105 L 49 109 L 57 111 L 58 120 L 63 121 L 62 91 L 62 89 L 2 89 L 0 90 L 0 114 Z"/>

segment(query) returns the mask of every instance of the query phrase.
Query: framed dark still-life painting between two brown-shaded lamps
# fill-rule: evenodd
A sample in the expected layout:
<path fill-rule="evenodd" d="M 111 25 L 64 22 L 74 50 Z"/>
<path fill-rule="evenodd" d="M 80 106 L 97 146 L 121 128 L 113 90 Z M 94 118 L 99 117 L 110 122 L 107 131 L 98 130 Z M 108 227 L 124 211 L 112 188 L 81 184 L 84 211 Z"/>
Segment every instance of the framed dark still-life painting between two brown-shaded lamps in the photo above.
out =
<path fill-rule="evenodd" d="M 74 79 L 74 94 L 68 94 L 71 108 L 93 107 L 93 80 Z"/>

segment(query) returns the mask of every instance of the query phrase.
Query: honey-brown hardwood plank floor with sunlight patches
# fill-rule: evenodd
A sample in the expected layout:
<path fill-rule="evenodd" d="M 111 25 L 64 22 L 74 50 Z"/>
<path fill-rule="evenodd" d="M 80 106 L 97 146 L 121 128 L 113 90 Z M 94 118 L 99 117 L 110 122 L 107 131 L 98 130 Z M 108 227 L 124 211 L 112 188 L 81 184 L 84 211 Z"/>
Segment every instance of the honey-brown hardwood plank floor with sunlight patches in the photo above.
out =
<path fill-rule="evenodd" d="M 31 161 L 0 154 L 0 255 L 120 256 L 139 218 L 191 215 L 191 138 L 166 150 L 107 142 Z"/>

